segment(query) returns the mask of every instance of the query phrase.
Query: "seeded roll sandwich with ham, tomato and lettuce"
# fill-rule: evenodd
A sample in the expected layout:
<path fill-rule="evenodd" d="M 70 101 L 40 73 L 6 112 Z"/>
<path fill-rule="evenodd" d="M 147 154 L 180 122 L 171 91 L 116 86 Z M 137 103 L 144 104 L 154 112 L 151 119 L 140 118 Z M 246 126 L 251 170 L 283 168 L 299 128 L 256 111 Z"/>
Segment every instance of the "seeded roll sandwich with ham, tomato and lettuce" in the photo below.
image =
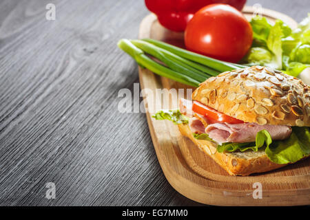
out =
<path fill-rule="evenodd" d="M 229 175 L 250 175 L 310 154 L 310 89 L 276 69 L 254 66 L 211 77 L 179 109 L 161 110 Z"/>

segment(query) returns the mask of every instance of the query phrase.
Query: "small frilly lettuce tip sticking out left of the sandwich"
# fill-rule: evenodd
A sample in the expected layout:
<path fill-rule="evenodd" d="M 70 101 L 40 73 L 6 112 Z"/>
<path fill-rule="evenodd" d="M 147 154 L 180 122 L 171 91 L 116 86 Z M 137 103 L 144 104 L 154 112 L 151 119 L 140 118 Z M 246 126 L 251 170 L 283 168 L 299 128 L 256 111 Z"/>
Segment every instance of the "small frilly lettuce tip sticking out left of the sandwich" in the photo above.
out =
<path fill-rule="evenodd" d="M 174 124 L 188 124 L 189 118 L 180 113 L 180 110 L 161 110 L 152 115 L 156 120 L 169 120 Z"/>

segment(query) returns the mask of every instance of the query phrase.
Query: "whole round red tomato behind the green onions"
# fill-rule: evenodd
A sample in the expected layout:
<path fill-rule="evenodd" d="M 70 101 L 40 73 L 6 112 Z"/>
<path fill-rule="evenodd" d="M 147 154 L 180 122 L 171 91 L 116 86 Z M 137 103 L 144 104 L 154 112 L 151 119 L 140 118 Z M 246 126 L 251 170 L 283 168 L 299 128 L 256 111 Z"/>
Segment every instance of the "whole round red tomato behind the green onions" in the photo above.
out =
<path fill-rule="evenodd" d="M 242 13 L 225 4 L 201 8 L 187 24 L 187 50 L 236 63 L 245 56 L 253 40 L 251 25 Z"/>

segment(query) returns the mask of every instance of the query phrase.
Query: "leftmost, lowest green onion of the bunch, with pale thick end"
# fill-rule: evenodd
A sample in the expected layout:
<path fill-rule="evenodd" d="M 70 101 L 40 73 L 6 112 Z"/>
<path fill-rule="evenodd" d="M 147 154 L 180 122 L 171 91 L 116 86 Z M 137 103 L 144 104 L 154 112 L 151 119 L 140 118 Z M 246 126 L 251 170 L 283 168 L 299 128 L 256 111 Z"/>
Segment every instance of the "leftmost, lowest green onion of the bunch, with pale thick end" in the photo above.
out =
<path fill-rule="evenodd" d="M 180 74 L 179 72 L 176 72 L 172 69 L 169 69 L 159 63 L 156 63 L 151 58 L 149 58 L 143 50 L 136 47 L 134 44 L 132 44 L 127 39 L 122 39 L 121 41 L 118 41 L 118 47 L 121 48 L 121 50 L 125 51 L 127 54 L 132 56 L 134 60 L 141 66 L 149 69 L 150 71 L 154 72 L 155 74 L 158 74 L 160 76 L 165 76 L 167 78 L 170 78 L 172 80 L 175 80 L 179 83 L 183 83 L 186 85 L 191 85 L 193 87 L 198 87 L 202 81 L 198 81 L 191 76 L 186 76 L 184 74 Z"/>

